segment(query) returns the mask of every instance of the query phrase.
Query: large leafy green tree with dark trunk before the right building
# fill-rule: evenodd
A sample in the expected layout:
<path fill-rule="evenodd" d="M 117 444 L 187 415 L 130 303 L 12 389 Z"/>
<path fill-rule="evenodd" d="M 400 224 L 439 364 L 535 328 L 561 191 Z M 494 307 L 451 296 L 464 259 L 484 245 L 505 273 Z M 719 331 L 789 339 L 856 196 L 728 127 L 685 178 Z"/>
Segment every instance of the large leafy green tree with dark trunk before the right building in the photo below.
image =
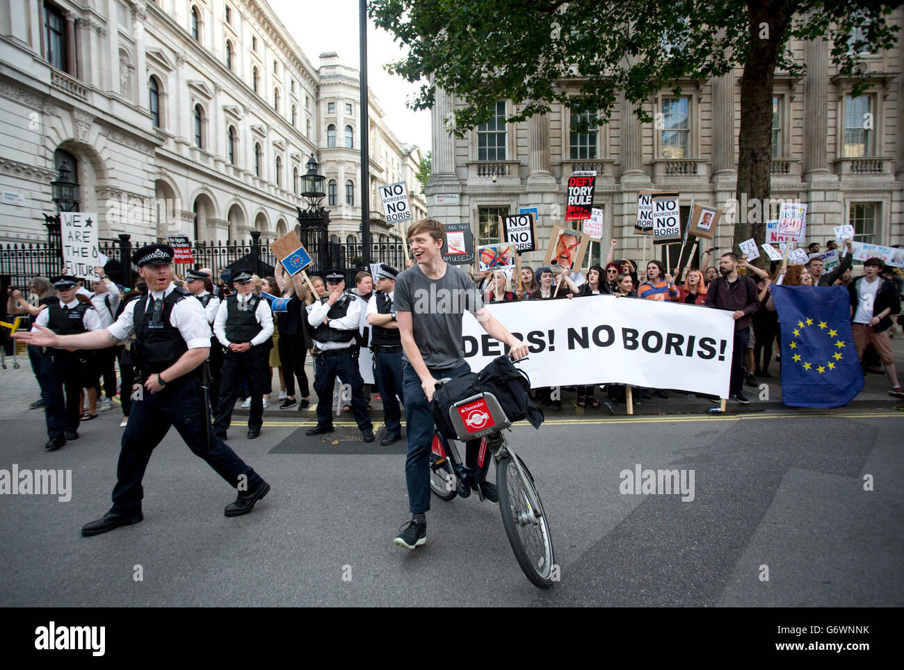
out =
<path fill-rule="evenodd" d="M 682 80 L 705 81 L 743 66 L 737 197 L 770 192 L 772 86 L 777 69 L 801 75 L 791 39 L 824 39 L 839 71 L 859 74 L 858 54 L 889 49 L 899 2 L 872 0 L 371 0 L 377 25 L 408 47 L 388 66 L 423 81 L 411 107 L 432 107 L 436 88 L 457 96 L 448 122 L 458 136 L 489 120 L 496 100 L 517 103 L 510 122 L 551 104 L 595 105 L 608 123 L 619 93 L 646 123 L 644 104 Z M 858 79 L 853 94 L 867 86 Z M 579 96 L 574 97 L 575 89 Z M 739 220 L 735 244 L 763 239 L 765 222 Z M 762 262 L 762 261 L 761 261 Z"/>

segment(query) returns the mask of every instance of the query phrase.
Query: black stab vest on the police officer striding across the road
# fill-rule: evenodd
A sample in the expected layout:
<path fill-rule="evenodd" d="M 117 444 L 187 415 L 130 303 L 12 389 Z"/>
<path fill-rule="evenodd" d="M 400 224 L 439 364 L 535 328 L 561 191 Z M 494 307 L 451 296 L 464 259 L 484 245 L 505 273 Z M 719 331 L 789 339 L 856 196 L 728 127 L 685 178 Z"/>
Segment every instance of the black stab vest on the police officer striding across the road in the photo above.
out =
<path fill-rule="evenodd" d="M 154 308 L 147 313 L 148 298 L 139 298 L 132 312 L 135 327 L 135 348 L 132 359 L 144 373 L 163 372 L 188 351 L 182 333 L 170 323 L 170 314 L 176 302 L 192 293 L 176 286 L 163 300 L 155 300 Z M 158 306 L 162 305 L 162 306 Z"/>

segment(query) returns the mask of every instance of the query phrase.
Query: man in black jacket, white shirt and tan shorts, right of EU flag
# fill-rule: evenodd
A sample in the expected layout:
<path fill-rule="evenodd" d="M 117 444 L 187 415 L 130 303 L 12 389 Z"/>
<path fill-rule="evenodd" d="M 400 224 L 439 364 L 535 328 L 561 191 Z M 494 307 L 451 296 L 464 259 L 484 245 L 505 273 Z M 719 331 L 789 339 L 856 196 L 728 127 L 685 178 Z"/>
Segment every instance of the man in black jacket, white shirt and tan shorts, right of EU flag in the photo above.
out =
<path fill-rule="evenodd" d="M 885 374 L 891 383 L 890 395 L 904 397 L 888 333 L 891 328 L 890 315 L 900 312 L 901 305 L 894 283 L 879 276 L 884 267 L 885 262 L 881 258 L 864 261 L 863 276 L 857 277 L 848 286 L 851 297 L 851 330 L 857 357 L 862 360 L 863 349 L 871 344 L 885 366 Z"/>

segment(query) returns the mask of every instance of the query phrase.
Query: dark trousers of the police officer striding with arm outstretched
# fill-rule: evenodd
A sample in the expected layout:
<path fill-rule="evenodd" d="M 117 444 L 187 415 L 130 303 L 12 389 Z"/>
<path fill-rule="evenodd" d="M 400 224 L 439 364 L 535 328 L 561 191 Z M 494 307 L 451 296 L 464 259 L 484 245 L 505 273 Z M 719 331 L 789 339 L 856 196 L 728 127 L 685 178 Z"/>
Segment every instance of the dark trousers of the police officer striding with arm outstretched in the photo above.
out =
<path fill-rule="evenodd" d="M 132 402 L 119 451 L 117 484 L 113 489 L 114 512 L 132 514 L 141 510 L 145 495 L 141 480 L 145 477 L 147 462 L 170 426 L 174 426 L 188 448 L 207 461 L 233 489 L 240 482 L 247 485 L 247 490 L 259 486 L 258 473 L 251 470 L 226 442 L 211 435 L 208 447 L 201 387 L 192 375 L 174 379 L 160 393 L 145 389 L 144 399 Z M 246 479 L 240 479 L 241 475 Z"/>

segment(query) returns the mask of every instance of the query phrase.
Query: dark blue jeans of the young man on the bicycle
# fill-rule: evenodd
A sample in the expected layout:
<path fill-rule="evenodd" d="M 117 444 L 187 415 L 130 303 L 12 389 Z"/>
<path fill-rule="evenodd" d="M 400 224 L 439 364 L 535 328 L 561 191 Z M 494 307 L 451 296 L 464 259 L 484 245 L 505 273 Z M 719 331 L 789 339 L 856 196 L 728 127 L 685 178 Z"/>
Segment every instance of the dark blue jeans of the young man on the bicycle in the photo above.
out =
<path fill-rule="evenodd" d="M 430 370 L 434 379 L 457 377 L 471 368 L 463 363 L 457 368 Z M 408 484 L 408 506 L 411 514 L 424 514 L 430 508 L 430 447 L 433 443 L 433 414 L 420 377 L 410 364 L 402 370 L 402 402 L 405 403 L 405 426 L 408 431 L 408 456 L 405 459 L 405 481 Z M 466 442 L 465 464 L 474 468 L 480 440 Z"/>

